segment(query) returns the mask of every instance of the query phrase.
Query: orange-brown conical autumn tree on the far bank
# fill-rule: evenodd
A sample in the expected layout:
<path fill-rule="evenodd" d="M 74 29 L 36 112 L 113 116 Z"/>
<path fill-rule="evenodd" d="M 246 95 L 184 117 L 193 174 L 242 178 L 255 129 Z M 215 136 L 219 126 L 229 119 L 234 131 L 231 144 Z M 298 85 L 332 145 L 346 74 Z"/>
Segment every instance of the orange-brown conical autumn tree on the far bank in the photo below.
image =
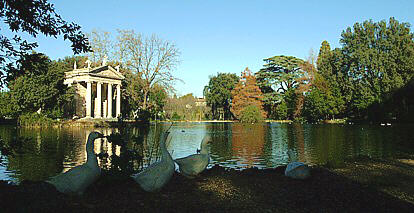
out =
<path fill-rule="evenodd" d="M 233 97 L 231 112 L 237 119 L 241 118 L 243 110 L 248 106 L 257 106 L 262 118 L 266 117 L 266 112 L 263 110 L 262 91 L 257 86 L 256 77 L 252 75 L 249 68 L 242 72 L 240 81 L 231 94 Z"/>

